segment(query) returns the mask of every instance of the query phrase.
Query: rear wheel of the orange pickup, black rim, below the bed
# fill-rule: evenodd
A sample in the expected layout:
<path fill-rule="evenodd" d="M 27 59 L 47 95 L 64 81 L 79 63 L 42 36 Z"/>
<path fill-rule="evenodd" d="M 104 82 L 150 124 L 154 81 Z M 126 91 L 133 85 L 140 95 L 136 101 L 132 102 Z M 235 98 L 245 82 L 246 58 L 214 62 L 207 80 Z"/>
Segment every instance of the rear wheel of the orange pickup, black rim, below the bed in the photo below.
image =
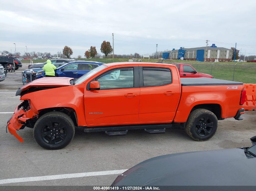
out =
<path fill-rule="evenodd" d="M 214 113 L 206 109 L 196 109 L 188 116 L 185 131 L 196 141 L 210 139 L 218 128 L 218 119 Z"/>

